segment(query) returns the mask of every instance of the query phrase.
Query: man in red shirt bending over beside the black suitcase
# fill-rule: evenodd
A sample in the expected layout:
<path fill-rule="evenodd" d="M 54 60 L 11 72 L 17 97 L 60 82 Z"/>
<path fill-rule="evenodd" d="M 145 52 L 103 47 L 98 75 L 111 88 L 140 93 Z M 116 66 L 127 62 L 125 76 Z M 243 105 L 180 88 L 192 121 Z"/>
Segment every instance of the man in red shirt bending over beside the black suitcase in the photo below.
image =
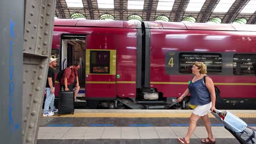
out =
<path fill-rule="evenodd" d="M 73 91 L 73 88 L 75 89 L 74 98 L 76 101 L 78 101 L 77 95 L 80 89 L 77 74 L 78 69 L 80 69 L 79 63 L 75 63 L 74 65 L 66 68 L 61 79 L 61 85 L 65 91 Z"/>

